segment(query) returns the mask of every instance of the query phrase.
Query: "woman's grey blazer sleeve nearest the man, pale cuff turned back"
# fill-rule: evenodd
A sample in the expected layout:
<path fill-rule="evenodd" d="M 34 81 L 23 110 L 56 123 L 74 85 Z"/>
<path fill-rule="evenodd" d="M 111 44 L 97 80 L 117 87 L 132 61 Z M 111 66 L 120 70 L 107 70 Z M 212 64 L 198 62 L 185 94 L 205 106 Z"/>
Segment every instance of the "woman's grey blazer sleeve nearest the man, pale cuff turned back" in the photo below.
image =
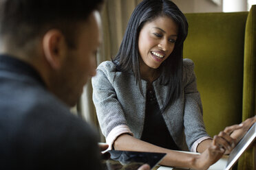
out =
<path fill-rule="evenodd" d="M 120 134 L 131 134 L 127 126 L 122 106 L 116 97 L 114 79 L 115 66 L 110 62 L 103 62 L 97 68 L 97 74 L 92 78 L 93 101 L 100 128 L 111 149 Z"/>

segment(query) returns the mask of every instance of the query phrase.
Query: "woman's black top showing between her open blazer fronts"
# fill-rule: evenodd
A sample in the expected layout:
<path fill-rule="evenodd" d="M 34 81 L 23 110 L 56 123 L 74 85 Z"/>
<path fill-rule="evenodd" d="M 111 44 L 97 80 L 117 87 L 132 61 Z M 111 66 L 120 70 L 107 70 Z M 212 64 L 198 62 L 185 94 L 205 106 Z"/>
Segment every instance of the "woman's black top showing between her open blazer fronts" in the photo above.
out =
<path fill-rule="evenodd" d="M 147 90 L 145 123 L 141 140 L 159 147 L 180 150 L 167 129 L 153 90 Z"/>

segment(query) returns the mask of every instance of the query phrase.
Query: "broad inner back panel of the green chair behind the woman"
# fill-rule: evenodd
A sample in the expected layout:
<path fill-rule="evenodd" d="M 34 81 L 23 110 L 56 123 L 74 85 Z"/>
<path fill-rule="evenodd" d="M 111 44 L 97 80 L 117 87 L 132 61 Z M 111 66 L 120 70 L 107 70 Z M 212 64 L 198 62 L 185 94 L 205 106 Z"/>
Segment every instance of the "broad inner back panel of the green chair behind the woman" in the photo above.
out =
<path fill-rule="evenodd" d="M 195 62 L 204 123 L 211 136 L 242 121 L 247 16 L 248 12 L 186 14 L 184 58 Z"/>

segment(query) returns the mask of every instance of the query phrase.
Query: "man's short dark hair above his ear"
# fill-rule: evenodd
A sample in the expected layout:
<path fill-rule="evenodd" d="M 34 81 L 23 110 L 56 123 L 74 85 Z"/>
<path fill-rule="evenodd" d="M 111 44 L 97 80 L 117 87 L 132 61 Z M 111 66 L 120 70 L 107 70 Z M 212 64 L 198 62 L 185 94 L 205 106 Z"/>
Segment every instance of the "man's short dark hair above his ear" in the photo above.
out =
<path fill-rule="evenodd" d="M 61 29 L 67 45 L 74 46 L 76 23 L 86 21 L 104 0 L 0 0 L 0 38 L 8 36 L 15 47 L 42 35 L 47 29 Z"/>

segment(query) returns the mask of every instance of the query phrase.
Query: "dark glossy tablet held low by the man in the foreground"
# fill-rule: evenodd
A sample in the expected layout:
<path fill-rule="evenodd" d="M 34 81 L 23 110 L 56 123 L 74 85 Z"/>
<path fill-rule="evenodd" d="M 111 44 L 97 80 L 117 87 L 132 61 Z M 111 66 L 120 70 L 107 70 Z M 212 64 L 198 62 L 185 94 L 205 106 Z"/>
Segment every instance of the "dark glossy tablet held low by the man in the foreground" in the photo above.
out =
<path fill-rule="evenodd" d="M 137 170 L 143 164 L 148 164 L 151 169 L 158 165 L 158 162 L 166 154 L 145 152 L 145 151 L 108 151 L 111 155 L 109 160 L 103 160 L 104 170 Z"/>

